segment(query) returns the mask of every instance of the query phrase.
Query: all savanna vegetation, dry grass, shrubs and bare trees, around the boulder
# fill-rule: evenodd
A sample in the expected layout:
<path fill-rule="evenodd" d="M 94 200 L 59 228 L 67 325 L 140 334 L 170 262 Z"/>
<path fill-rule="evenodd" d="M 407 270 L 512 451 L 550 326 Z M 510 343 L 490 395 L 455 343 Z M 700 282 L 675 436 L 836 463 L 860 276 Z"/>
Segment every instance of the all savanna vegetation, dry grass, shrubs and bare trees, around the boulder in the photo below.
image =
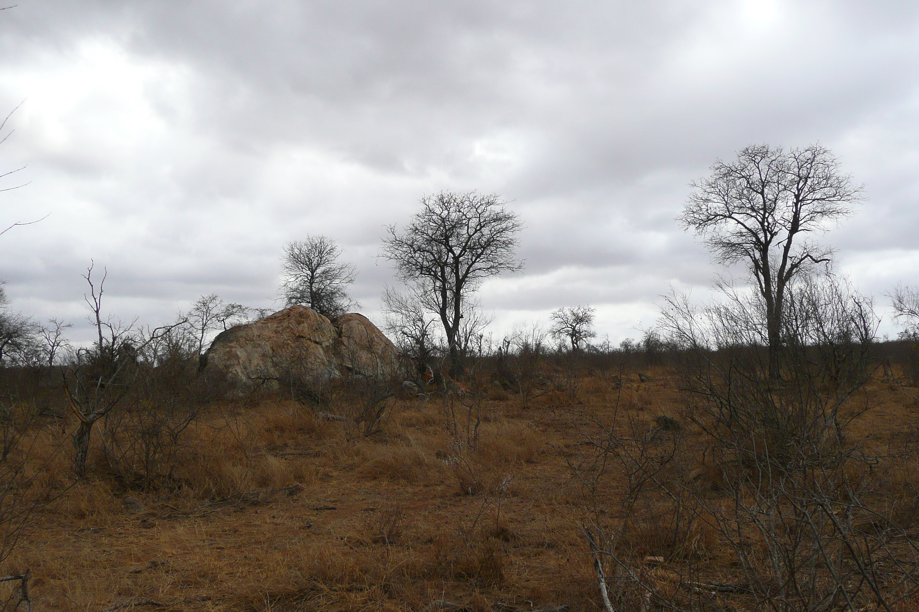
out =
<path fill-rule="evenodd" d="M 385 377 L 352 355 L 335 375 L 298 362 L 233 378 L 202 353 L 251 310 L 205 295 L 142 328 L 104 316 L 92 267 L 91 343 L 7 311 L 0 601 L 919 610 L 915 291 L 894 290 L 905 330 L 879 340 L 833 251 L 794 241 L 802 218 L 848 210 L 791 188 L 812 184 L 802 172 L 856 199 L 829 152 L 738 159 L 716 164 L 682 220 L 720 261 L 748 264 L 753 290 L 722 278 L 707 305 L 666 295 L 655 326 L 618 346 L 591 343 L 593 306 L 486 334 L 475 292 L 521 269 L 522 223 L 474 193 L 425 198 L 388 228 L 383 255 L 406 285 L 383 299 L 401 362 L 373 370 Z M 774 176 L 751 170 L 764 163 Z M 754 175 L 775 184 L 753 189 Z M 351 304 L 341 253 L 326 237 L 289 243 L 288 306 Z"/>

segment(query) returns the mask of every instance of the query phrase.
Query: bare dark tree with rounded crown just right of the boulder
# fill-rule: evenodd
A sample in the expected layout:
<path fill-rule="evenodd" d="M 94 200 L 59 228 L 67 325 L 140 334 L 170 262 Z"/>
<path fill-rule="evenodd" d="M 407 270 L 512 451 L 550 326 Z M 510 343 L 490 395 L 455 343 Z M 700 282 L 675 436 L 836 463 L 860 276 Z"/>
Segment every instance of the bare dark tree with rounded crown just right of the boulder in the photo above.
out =
<path fill-rule="evenodd" d="M 427 195 L 403 232 L 389 226 L 383 240 L 382 256 L 395 263 L 404 282 L 423 288 L 425 308 L 440 319 L 453 373 L 471 294 L 484 279 L 523 268 L 516 259 L 523 224 L 506 204 L 494 194 Z"/>

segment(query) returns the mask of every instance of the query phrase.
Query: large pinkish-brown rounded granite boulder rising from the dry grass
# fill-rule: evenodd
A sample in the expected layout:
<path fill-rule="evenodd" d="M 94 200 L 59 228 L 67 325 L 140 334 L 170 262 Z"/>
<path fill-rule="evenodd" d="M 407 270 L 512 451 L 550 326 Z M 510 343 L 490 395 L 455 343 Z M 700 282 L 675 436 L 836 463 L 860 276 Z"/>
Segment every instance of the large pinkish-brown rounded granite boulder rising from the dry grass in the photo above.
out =
<path fill-rule="evenodd" d="M 384 378 L 397 363 L 395 346 L 367 317 L 350 313 L 330 321 L 306 306 L 228 329 L 202 358 L 202 367 L 252 382 L 290 375 Z"/>

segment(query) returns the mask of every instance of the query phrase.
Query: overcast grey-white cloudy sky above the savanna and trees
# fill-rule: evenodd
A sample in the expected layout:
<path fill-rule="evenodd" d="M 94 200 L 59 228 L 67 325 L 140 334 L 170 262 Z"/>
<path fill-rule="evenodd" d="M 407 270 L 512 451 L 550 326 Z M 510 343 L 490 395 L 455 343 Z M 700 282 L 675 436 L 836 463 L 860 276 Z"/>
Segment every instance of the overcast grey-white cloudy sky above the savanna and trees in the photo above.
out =
<path fill-rule="evenodd" d="M 674 217 L 752 143 L 820 142 L 868 200 L 823 239 L 879 298 L 919 284 L 915 2 L 18 0 L 0 12 L 0 278 L 88 338 L 107 308 L 276 305 L 288 240 L 326 234 L 374 317 L 384 224 L 442 189 L 501 194 L 524 273 L 482 287 L 497 332 L 559 306 L 638 336 L 717 268 Z M 278 306 L 279 307 L 279 306 Z M 895 329 L 890 321 L 882 331 Z"/>

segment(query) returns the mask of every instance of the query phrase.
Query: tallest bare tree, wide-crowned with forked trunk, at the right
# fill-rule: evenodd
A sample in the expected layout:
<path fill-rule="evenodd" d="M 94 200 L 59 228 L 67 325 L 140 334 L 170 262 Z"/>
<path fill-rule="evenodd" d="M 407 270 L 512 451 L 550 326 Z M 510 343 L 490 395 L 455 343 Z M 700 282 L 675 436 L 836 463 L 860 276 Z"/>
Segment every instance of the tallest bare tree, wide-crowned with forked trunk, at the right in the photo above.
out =
<path fill-rule="evenodd" d="M 740 150 L 733 163 L 716 161 L 711 175 L 692 186 L 696 192 L 677 220 L 719 263 L 747 265 L 764 302 L 769 374 L 776 378 L 789 284 L 832 261 L 833 250 L 810 236 L 850 215 L 861 187 L 820 145 L 786 152 L 765 144 Z"/>

